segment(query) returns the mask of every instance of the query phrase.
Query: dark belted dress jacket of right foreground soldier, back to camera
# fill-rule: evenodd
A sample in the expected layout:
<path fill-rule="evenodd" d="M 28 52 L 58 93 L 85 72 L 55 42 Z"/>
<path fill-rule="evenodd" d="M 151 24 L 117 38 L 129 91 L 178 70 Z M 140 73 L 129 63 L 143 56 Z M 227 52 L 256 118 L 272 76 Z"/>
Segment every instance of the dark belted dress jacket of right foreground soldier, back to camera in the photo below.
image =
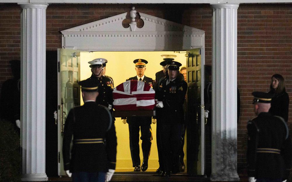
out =
<path fill-rule="evenodd" d="M 247 123 L 248 176 L 287 179 L 291 169 L 292 145 L 283 118 L 260 113 Z"/>

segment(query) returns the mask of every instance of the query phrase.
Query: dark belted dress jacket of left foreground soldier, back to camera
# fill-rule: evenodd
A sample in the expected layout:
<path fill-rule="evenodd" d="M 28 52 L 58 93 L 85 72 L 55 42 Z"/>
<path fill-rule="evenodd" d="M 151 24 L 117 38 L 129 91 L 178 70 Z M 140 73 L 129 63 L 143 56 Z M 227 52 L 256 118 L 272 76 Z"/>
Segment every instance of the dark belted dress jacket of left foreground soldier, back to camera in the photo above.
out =
<path fill-rule="evenodd" d="M 89 101 L 72 108 L 63 136 L 65 171 L 107 172 L 108 169 L 115 169 L 117 137 L 111 114 L 105 106 Z"/>

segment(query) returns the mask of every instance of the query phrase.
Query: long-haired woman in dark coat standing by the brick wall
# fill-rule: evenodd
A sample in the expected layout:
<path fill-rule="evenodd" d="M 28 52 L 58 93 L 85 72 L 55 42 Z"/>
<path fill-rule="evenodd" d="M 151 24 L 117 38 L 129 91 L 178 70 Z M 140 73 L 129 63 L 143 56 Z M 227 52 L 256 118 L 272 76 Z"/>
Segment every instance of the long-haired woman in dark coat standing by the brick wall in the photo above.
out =
<path fill-rule="evenodd" d="M 269 93 L 274 94 L 269 112 L 288 122 L 289 95 L 286 92 L 282 75 L 274 74 L 272 76 Z"/>

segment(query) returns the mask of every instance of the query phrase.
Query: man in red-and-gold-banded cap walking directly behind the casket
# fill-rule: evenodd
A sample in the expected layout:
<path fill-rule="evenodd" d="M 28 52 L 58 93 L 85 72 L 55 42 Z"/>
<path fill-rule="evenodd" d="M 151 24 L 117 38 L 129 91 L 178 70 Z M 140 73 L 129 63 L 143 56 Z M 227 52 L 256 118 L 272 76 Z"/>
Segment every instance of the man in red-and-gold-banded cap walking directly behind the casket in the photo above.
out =
<path fill-rule="evenodd" d="M 151 87 L 153 86 L 154 80 L 144 75 L 146 69 L 146 64 L 148 63 L 143 59 L 136 59 L 133 61 L 135 63 L 135 70 L 137 75 L 129 80 L 140 80 L 148 83 Z M 129 126 L 129 141 L 130 141 L 130 151 L 133 162 L 134 171 L 146 171 L 148 169 L 148 159 L 151 149 L 152 141 L 152 129 L 151 129 L 151 116 L 131 116 L 128 118 L 122 118 L 124 121 L 128 122 Z M 124 123 L 126 123 L 124 122 Z M 142 140 L 142 153 L 143 162 L 140 167 L 140 146 L 139 146 L 139 131 L 141 129 Z"/>

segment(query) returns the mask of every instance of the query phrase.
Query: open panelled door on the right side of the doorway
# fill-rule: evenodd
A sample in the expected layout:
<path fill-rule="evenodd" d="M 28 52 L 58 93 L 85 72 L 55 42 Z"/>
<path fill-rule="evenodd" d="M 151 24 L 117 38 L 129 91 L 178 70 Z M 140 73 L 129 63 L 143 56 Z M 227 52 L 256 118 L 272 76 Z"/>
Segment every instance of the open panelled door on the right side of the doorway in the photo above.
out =
<path fill-rule="evenodd" d="M 202 55 L 201 55 L 202 53 Z M 204 49 L 187 50 L 187 173 L 204 175 Z"/>

